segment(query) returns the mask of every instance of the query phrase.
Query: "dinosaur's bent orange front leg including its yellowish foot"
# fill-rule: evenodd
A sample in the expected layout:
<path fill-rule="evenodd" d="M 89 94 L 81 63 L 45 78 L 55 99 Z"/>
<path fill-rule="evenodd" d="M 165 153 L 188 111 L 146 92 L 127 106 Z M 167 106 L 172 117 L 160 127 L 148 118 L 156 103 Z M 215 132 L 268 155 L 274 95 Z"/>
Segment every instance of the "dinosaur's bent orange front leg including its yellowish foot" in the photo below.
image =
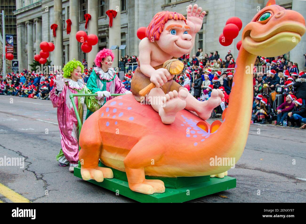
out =
<path fill-rule="evenodd" d="M 154 166 L 152 161 L 155 164 L 164 154 L 164 147 L 161 144 L 148 144 L 153 139 L 156 138 L 154 136 L 142 138 L 124 159 L 125 172 L 132 191 L 143 194 L 165 192 L 163 181 L 145 179 L 144 167 Z"/>

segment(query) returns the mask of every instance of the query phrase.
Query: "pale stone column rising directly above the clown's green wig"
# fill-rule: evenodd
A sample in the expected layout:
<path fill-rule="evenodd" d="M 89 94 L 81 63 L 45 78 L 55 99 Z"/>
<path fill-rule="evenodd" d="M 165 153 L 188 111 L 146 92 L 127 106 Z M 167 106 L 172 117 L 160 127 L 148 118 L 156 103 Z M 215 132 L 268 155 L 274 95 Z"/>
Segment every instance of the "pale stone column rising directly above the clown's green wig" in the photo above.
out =
<path fill-rule="evenodd" d="M 76 40 L 76 32 L 79 31 L 79 1 L 69 0 L 69 16 L 71 20 L 71 32 L 69 34 L 69 61 L 75 58 L 80 60 L 80 44 Z"/>

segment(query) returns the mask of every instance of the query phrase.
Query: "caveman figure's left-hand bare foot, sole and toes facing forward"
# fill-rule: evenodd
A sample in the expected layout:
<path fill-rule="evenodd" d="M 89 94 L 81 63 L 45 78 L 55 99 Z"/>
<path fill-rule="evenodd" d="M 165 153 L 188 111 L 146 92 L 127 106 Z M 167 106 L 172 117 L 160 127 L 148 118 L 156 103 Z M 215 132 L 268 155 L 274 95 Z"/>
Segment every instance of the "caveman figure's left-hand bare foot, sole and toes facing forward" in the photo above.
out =
<path fill-rule="evenodd" d="M 186 106 L 187 92 L 180 90 L 177 93 L 176 90 L 169 92 L 165 95 L 163 106 L 159 108 L 159 116 L 162 119 L 162 123 L 171 124 L 174 122 L 175 116 L 178 111 L 183 110 Z"/>

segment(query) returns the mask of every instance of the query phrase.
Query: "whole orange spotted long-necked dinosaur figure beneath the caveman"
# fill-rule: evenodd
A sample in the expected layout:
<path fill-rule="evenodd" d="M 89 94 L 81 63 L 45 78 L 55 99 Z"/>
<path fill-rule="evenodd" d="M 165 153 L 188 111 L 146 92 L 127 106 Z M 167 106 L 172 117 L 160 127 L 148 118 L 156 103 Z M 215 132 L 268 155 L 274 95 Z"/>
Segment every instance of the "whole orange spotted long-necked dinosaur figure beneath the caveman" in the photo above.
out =
<path fill-rule="evenodd" d="M 222 123 L 210 125 L 183 109 L 173 123 L 164 124 L 150 105 L 140 104 L 132 94 L 109 100 L 84 122 L 80 132 L 82 178 L 101 182 L 113 177 L 110 168 L 98 166 L 99 159 L 126 172 L 129 188 L 144 194 L 165 191 L 162 181 L 147 180 L 145 175 L 223 177 L 230 165 L 211 166 L 210 161 L 217 156 L 237 162 L 244 150 L 253 98 L 253 69 L 247 68 L 252 68 L 257 55 L 271 57 L 288 52 L 304 33 L 304 18 L 275 5 L 275 1 L 270 0 L 255 15 L 242 33 L 231 99 Z"/>

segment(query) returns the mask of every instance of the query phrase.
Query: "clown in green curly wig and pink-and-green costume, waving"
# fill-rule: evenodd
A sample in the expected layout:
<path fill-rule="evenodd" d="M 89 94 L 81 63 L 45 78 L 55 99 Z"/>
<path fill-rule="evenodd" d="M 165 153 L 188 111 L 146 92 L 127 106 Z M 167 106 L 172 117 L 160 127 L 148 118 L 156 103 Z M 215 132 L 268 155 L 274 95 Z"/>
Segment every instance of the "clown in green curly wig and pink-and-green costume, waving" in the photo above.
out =
<path fill-rule="evenodd" d="M 79 144 L 78 144 L 78 122 L 73 110 L 70 94 L 91 94 L 82 79 L 84 66 L 75 59 L 69 61 L 63 68 L 63 75 L 57 75 L 54 79 L 55 88 L 51 90 L 50 99 L 53 107 L 57 107 L 58 127 L 61 134 L 62 149 L 56 156 L 60 166 L 70 163 L 69 171 L 73 172 L 78 166 Z M 74 98 L 76 108 L 83 123 L 84 105 L 87 110 L 96 111 L 100 108 L 98 100 L 94 96 L 79 96 Z"/>

